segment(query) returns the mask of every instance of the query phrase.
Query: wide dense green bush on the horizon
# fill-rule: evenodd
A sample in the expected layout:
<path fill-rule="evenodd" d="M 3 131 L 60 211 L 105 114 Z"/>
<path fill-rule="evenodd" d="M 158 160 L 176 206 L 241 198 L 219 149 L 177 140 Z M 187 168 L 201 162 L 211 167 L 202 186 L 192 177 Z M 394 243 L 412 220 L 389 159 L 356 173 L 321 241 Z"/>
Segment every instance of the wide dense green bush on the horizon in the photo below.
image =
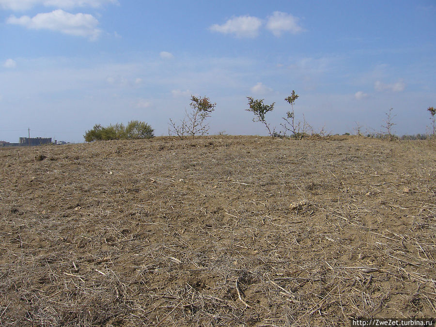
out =
<path fill-rule="evenodd" d="M 109 125 L 103 127 L 100 124 L 94 125 L 83 136 L 86 142 L 98 140 L 138 140 L 154 137 L 155 130 L 145 122 L 138 120 L 130 121 L 127 126 L 123 124 Z"/>

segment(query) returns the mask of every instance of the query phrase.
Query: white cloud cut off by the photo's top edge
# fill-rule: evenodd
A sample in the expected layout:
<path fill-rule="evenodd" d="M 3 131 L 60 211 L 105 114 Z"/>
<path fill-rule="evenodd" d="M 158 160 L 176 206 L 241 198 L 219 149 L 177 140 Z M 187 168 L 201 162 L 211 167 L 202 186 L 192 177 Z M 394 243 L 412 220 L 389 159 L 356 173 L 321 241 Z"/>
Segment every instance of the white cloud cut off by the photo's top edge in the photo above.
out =
<path fill-rule="evenodd" d="M 0 8 L 14 11 L 27 10 L 39 5 L 62 9 L 75 7 L 97 8 L 106 3 L 117 4 L 118 0 L 0 0 Z"/>

